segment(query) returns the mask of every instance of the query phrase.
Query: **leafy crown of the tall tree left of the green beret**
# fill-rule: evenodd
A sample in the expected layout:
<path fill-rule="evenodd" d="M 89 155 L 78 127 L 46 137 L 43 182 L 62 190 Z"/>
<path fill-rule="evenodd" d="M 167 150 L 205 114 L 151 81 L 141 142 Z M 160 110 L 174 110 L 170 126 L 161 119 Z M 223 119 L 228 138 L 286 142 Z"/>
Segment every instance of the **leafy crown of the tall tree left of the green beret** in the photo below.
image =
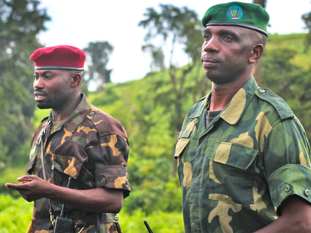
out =
<path fill-rule="evenodd" d="M 153 7 L 147 8 L 144 13 L 146 19 L 138 23 L 147 30 L 144 40 L 148 44 L 153 43 L 154 48 L 165 46 L 169 50 L 169 67 L 174 66 L 173 55 L 178 44 L 183 45 L 190 58 L 197 60 L 197 52 L 200 52 L 197 41 L 202 41 L 197 13 L 188 7 L 179 8 L 171 4 L 160 4 L 159 7 L 159 12 Z M 160 45 L 155 44 L 158 38 L 161 38 Z"/>

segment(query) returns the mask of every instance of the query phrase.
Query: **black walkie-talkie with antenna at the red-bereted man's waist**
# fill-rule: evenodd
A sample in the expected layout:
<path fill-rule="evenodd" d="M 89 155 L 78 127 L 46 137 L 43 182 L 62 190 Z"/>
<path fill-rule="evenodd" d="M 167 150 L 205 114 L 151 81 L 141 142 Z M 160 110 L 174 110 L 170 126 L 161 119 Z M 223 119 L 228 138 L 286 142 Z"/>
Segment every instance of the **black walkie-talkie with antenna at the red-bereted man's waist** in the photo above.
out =
<path fill-rule="evenodd" d="M 72 177 L 69 177 L 67 188 L 70 187 Z M 65 213 L 65 204 L 62 206 L 60 215 L 56 217 L 54 225 L 54 233 L 73 233 L 76 228 L 76 221 L 71 218 L 68 214 L 64 217 Z"/>

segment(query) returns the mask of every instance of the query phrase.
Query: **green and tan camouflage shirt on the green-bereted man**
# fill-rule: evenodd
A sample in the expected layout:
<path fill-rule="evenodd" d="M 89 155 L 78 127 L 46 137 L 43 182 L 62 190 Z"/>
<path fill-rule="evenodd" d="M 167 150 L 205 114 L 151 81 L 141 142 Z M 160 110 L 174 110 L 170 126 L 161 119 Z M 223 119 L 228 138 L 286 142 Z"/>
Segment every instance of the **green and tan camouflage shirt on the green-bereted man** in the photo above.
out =
<path fill-rule="evenodd" d="M 190 108 L 174 158 L 186 232 L 253 232 L 290 195 L 311 202 L 310 146 L 285 101 L 253 76 L 205 127 L 211 94 Z"/>

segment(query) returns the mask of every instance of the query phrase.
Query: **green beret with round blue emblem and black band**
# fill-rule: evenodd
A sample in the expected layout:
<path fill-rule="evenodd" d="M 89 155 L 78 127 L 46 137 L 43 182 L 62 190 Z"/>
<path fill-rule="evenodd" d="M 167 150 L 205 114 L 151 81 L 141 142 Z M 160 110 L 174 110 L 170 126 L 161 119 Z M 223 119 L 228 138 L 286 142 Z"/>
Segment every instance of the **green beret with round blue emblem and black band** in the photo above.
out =
<path fill-rule="evenodd" d="M 268 37 L 269 15 L 259 4 L 228 2 L 210 7 L 202 18 L 206 26 L 239 26 L 261 32 Z"/>

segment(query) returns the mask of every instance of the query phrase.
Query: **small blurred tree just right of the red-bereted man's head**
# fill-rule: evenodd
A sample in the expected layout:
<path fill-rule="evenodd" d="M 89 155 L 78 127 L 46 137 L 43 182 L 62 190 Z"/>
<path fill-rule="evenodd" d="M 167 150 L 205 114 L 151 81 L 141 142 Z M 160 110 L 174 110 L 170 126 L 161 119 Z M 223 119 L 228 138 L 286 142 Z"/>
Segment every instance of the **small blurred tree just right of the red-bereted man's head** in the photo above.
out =
<path fill-rule="evenodd" d="M 88 47 L 83 49 L 91 57 L 87 71 L 89 76 L 88 83 L 90 81 L 98 83 L 97 87 L 102 89 L 106 83 L 111 82 L 110 73 L 112 70 L 107 70 L 106 66 L 113 49 L 113 46 L 108 41 L 90 42 Z"/>

